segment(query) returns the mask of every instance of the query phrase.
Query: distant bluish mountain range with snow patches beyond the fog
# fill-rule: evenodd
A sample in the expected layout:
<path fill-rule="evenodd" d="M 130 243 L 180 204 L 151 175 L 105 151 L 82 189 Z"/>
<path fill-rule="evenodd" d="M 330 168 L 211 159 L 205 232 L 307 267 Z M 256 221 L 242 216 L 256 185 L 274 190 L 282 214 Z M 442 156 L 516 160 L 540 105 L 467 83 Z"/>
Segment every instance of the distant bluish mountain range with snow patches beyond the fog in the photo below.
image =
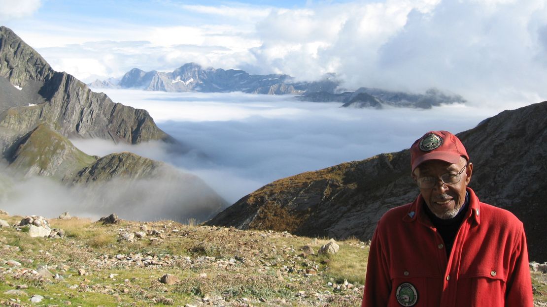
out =
<path fill-rule="evenodd" d="M 138 88 L 165 92 L 243 92 L 267 95 L 295 95 L 300 101 L 342 102 L 343 107 L 376 108 L 386 106 L 424 108 L 451 103 L 465 103 L 463 97 L 430 89 L 424 94 L 394 92 L 361 87 L 344 91 L 336 74 L 325 74 L 319 81 L 295 81 L 286 74 L 251 75 L 245 70 L 202 68 L 187 63 L 173 72 L 144 72 L 133 68 L 120 80 L 109 78 L 88 84 L 94 88 Z"/>

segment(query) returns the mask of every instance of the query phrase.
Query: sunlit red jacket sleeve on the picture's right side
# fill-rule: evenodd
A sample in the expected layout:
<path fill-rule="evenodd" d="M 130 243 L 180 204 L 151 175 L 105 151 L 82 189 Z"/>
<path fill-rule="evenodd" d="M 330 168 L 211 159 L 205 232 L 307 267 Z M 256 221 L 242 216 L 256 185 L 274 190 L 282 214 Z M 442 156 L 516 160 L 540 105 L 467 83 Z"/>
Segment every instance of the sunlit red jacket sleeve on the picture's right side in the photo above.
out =
<path fill-rule="evenodd" d="M 505 306 L 533 307 L 532 278 L 528 264 L 528 247 L 526 235 L 520 224 L 520 235 L 517 235 L 513 255 L 511 255 L 511 270 L 505 290 Z"/>

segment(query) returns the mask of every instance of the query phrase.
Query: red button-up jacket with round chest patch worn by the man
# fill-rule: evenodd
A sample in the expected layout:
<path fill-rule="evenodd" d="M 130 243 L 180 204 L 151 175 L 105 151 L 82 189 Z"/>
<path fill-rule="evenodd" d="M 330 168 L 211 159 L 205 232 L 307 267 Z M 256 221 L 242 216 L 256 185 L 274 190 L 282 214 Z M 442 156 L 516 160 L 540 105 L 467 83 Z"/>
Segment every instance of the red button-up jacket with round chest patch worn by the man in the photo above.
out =
<path fill-rule="evenodd" d="M 362 307 L 533 306 L 522 222 L 467 191 L 469 209 L 449 258 L 421 195 L 382 216 L 370 245 Z"/>

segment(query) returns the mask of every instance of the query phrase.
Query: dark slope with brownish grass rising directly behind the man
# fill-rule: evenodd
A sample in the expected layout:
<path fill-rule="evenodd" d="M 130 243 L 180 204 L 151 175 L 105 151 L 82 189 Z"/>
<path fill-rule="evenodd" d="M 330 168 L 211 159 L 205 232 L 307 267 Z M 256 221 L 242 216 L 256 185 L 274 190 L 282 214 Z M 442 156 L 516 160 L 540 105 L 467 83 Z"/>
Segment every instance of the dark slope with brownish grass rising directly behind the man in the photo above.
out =
<path fill-rule="evenodd" d="M 458 137 L 474 164 L 469 186 L 519 217 L 531 259 L 547 261 L 547 102 L 504 111 Z M 274 181 L 206 224 L 368 240 L 388 209 L 418 193 L 403 150 Z"/>

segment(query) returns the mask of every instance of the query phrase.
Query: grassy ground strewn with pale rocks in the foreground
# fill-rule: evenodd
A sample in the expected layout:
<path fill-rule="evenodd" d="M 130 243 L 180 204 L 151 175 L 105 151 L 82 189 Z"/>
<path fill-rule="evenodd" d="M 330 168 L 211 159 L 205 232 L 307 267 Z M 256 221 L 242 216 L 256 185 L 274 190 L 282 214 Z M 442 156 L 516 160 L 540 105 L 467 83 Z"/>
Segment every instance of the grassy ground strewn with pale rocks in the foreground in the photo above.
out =
<path fill-rule="evenodd" d="M 1 213 L 2 305 L 358 306 L 363 293 L 368 246 L 358 240 Z M 35 228 L 51 235 L 31 237 L 44 235 Z M 339 249 L 321 254 L 324 245 Z M 531 264 L 537 306 L 547 306 L 546 270 Z"/>

